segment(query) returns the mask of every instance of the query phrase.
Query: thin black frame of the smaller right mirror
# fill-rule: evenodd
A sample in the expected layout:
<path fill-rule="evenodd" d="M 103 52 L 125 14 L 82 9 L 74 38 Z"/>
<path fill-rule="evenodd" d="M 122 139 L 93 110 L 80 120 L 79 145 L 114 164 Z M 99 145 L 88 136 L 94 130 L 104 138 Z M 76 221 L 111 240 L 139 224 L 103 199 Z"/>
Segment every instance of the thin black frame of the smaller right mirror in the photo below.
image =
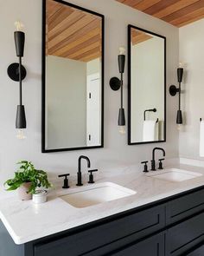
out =
<path fill-rule="evenodd" d="M 164 40 L 164 131 L 163 131 L 163 140 L 162 141 L 141 141 L 141 142 L 131 142 L 131 29 L 141 30 L 145 33 L 151 34 L 153 36 L 158 36 L 163 38 Z M 128 25 L 128 145 L 139 145 L 139 144 L 150 144 L 150 143 L 160 143 L 166 142 L 166 126 L 167 126 L 167 118 L 166 118 L 166 36 L 158 35 L 149 30 L 143 30 L 139 27 L 133 26 L 131 24 Z"/>

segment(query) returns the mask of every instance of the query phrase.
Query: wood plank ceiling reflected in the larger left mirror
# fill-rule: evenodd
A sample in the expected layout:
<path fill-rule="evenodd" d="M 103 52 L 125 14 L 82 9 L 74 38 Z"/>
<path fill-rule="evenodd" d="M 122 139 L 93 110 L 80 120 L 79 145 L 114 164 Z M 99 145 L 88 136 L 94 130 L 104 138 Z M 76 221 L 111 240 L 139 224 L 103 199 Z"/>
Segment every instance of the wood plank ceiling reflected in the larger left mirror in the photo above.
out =
<path fill-rule="evenodd" d="M 101 18 L 47 1 L 46 54 L 89 62 L 101 56 Z"/>

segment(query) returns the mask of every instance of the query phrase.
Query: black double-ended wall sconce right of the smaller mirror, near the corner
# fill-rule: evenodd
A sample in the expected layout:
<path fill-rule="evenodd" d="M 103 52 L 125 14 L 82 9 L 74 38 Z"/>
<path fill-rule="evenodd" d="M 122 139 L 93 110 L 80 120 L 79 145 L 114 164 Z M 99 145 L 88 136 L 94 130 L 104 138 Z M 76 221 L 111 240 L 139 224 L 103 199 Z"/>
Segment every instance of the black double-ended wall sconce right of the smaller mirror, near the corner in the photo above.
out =
<path fill-rule="evenodd" d="M 171 85 L 169 87 L 169 94 L 172 96 L 175 96 L 177 93 L 179 94 L 179 109 L 177 110 L 176 115 L 176 123 L 178 124 L 178 127 L 182 125 L 182 110 L 181 110 L 181 84 L 182 84 L 182 76 L 183 76 L 183 68 L 177 69 L 177 79 L 179 83 L 179 87 L 176 88 L 175 85 Z"/>

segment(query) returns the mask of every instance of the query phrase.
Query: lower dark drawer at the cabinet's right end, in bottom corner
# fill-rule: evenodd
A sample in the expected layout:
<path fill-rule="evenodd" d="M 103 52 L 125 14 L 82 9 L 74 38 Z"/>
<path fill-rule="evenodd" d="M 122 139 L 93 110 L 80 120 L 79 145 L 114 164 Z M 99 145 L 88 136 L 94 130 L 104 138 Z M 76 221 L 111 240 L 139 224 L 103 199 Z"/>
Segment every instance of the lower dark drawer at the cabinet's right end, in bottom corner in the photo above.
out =
<path fill-rule="evenodd" d="M 203 241 L 204 213 L 169 228 L 166 232 L 167 256 L 181 255 Z M 186 254 L 185 254 L 186 255 Z"/>

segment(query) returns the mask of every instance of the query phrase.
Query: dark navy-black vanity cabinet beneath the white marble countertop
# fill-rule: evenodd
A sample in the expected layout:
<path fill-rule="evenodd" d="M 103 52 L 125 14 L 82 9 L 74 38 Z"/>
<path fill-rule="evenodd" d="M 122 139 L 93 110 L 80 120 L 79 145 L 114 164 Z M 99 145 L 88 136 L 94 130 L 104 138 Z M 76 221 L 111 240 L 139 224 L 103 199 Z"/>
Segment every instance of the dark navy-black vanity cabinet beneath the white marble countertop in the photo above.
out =
<path fill-rule="evenodd" d="M 5 231 L 0 232 L 0 245 L 1 235 L 4 240 L 7 235 L 4 247 L 11 243 Z M 204 187 L 12 246 L 15 253 L 10 249 L 6 256 L 203 256 Z M 5 256 L 1 247 L 0 256 Z"/>

